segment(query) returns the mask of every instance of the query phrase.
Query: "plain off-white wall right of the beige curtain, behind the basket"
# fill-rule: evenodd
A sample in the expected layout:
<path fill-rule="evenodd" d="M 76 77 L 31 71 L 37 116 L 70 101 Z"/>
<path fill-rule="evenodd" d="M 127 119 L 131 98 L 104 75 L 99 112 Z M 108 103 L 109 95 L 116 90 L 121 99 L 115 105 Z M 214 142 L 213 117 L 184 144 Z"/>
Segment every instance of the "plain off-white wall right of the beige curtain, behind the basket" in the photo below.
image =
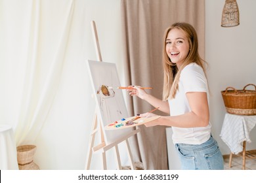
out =
<path fill-rule="evenodd" d="M 227 28 L 221 27 L 224 0 L 205 0 L 205 59 L 209 63 L 211 123 L 223 154 L 229 154 L 230 150 L 219 137 L 226 112 L 221 91 L 228 86 L 241 90 L 246 84 L 256 84 L 256 1 L 237 0 L 237 3 L 240 25 Z M 252 143 L 247 149 L 256 148 L 255 132 L 256 128 L 250 133 Z"/>

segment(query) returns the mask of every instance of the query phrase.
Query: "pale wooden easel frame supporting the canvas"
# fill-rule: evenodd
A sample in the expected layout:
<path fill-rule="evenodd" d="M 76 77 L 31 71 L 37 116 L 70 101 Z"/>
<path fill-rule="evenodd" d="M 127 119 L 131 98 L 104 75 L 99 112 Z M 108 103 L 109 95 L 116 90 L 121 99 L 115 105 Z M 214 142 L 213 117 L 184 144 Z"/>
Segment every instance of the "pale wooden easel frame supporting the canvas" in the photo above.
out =
<path fill-rule="evenodd" d="M 95 41 L 95 49 L 96 49 L 96 56 L 98 61 L 102 61 L 102 57 L 100 54 L 100 45 L 98 42 L 98 34 L 96 31 L 96 25 L 95 22 L 92 21 L 91 22 L 91 26 L 92 26 L 92 31 L 94 34 L 94 41 Z M 93 126 L 92 126 L 92 130 L 91 130 L 91 137 L 90 137 L 90 141 L 89 141 L 89 149 L 87 152 L 87 161 L 85 164 L 85 169 L 89 170 L 90 169 L 90 165 L 91 165 L 91 158 L 93 156 L 93 152 L 100 152 L 101 153 L 101 158 L 102 158 L 102 165 L 103 165 L 103 169 L 106 170 L 106 151 L 110 150 L 111 148 L 115 148 L 115 155 L 116 155 L 116 165 L 117 165 L 117 169 L 121 169 L 121 160 L 120 160 L 120 156 L 119 156 L 119 150 L 118 150 L 118 144 L 125 141 L 126 143 L 126 148 L 127 148 L 127 154 L 128 154 L 128 158 L 129 161 L 131 163 L 131 169 L 135 169 L 135 164 L 133 161 L 133 156 L 131 154 L 131 148 L 129 145 L 129 137 L 132 137 L 133 135 L 139 133 L 140 129 L 136 129 L 134 131 L 131 131 L 131 133 L 125 135 L 124 137 L 121 137 L 119 139 L 117 139 L 115 142 L 112 142 L 110 144 L 106 144 L 105 138 L 104 137 L 104 133 L 102 131 L 102 129 L 104 128 L 104 126 L 102 126 L 102 123 L 100 122 L 98 124 L 98 109 L 95 108 L 95 115 L 93 118 Z M 95 143 L 95 135 L 96 133 L 100 133 L 100 144 L 94 146 Z"/>

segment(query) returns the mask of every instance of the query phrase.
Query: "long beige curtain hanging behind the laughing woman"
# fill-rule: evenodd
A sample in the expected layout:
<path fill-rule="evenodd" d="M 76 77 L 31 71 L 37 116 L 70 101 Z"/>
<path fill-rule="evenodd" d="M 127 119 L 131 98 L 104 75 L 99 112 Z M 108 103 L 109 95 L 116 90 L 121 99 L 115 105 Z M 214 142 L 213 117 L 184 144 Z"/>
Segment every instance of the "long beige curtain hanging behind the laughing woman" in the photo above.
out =
<path fill-rule="evenodd" d="M 121 12 L 127 84 L 153 87 L 148 93 L 161 98 L 163 33 L 175 22 L 188 22 L 195 27 L 204 58 L 204 0 L 121 0 Z M 130 115 L 152 109 L 137 97 L 129 97 L 127 106 Z M 165 127 L 140 129 L 133 143 L 139 152 L 135 159 L 142 161 L 144 169 L 168 169 Z"/>

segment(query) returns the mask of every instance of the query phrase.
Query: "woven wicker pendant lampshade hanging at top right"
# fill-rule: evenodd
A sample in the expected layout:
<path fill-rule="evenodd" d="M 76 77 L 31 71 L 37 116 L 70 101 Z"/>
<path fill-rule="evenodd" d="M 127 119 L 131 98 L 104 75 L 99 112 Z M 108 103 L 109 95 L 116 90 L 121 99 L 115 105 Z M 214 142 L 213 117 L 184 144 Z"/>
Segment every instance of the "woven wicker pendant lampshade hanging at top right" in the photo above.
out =
<path fill-rule="evenodd" d="M 236 0 L 226 0 L 223 8 L 222 27 L 234 27 L 239 25 L 239 9 Z"/>

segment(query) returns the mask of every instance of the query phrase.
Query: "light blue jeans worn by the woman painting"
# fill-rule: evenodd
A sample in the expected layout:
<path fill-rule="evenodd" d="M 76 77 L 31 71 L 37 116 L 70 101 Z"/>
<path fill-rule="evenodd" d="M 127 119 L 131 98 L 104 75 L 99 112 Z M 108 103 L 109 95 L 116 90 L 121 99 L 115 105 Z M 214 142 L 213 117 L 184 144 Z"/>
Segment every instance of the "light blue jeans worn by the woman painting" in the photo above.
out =
<path fill-rule="evenodd" d="M 223 155 L 211 136 L 203 144 L 175 144 L 183 170 L 223 170 Z"/>

